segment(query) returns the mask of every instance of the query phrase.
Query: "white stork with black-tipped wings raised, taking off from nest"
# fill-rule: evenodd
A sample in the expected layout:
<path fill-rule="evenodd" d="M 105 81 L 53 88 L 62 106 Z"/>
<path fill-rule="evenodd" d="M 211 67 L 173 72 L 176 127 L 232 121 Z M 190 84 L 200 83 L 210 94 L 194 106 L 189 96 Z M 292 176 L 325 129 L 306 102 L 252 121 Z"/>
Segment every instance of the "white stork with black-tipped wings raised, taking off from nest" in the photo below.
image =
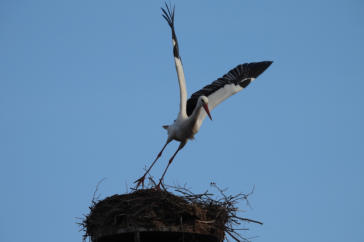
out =
<path fill-rule="evenodd" d="M 250 82 L 257 78 L 258 75 L 262 74 L 263 71 L 265 71 L 273 62 L 262 61 L 238 65 L 233 70 L 230 70 L 227 74 L 223 75 L 222 78 L 218 78 L 210 85 L 207 85 L 203 87 L 203 89 L 192 94 L 191 98 L 187 100 L 185 74 L 183 73 L 183 66 L 181 62 L 181 57 L 179 56 L 177 37 L 174 32 L 174 7 L 172 13 L 168 8 L 167 4 L 166 7 L 168 14 L 162 8 L 163 13 L 165 14 L 162 16 L 167 20 L 169 26 L 172 29 L 173 55 L 177 70 L 181 101 L 179 103 L 178 116 L 177 119 L 174 120 L 174 123 L 171 125 L 162 126 L 168 131 L 166 144 L 164 145 L 161 152 L 159 152 L 157 159 L 155 159 L 147 172 L 140 179 L 134 182 L 138 182 L 135 189 L 138 188 L 138 186 L 141 184 L 142 186 L 144 186 L 144 180 L 147 173 L 153 167 L 154 163 L 158 160 L 158 158 L 161 157 L 162 152 L 166 148 L 167 144 L 170 143 L 172 140 L 177 140 L 181 142 L 181 144 L 179 144 L 177 151 L 169 160 L 167 168 L 163 173 L 162 178 L 159 180 L 156 188 L 160 189 L 163 177 L 166 174 L 166 171 L 169 165 L 172 163 L 174 157 L 177 155 L 177 152 L 186 145 L 189 139 L 194 139 L 194 135 L 198 132 L 203 122 L 203 119 L 206 118 L 206 115 L 209 115 L 209 118 L 211 119 L 210 111 L 213 110 L 214 107 L 216 107 L 219 103 L 221 103 L 231 95 L 234 95 L 238 91 L 243 90 L 246 86 L 249 85 Z"/>

